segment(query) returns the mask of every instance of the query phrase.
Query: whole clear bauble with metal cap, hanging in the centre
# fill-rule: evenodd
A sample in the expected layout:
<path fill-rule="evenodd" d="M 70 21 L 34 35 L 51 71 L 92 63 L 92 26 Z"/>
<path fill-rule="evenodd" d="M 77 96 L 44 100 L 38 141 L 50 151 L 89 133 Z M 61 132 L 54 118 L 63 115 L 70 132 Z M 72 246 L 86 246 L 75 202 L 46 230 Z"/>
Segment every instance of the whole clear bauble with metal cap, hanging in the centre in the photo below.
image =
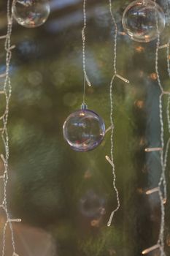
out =
<path fill-rule="evenodd" d="M 93 150 L 100 145 L 104 135 L 104 121 L 84 104 L 81 110 L 69 115 L 63 124 L 63 137 L 75 151 Z"/>

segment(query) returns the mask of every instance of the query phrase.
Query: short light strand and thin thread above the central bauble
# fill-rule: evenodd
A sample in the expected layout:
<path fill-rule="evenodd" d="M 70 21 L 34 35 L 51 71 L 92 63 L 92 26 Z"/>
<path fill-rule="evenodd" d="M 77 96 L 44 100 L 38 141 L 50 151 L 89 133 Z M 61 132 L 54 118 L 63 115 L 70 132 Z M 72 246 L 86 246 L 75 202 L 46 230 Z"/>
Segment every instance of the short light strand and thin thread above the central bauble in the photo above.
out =
<path fill-rule="evenodd" d="M 83 0 L 83 21 L 84 26 L 82 28 L 82 68 L 84 72 L 84 85 L 83 85 L 83 104 L 85 104 L 85 83 L 88 83 L 88 86 L 91 86 L 90 80 L 88 78 L 86 72 L 86 61 L 85 61 L 85 29 L 87 26 L 87 18 L 86 18 L 86 0 Z"/>

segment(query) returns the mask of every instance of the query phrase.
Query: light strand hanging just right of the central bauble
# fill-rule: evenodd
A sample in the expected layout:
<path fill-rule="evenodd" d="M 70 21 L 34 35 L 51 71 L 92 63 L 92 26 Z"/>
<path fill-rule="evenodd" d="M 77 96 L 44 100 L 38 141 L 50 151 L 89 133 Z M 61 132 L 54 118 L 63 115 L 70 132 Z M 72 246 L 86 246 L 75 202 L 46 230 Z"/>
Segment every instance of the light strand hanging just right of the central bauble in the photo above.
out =
<path fill-rule="evenodd" d="M 112 213 L 109 217 L 109 221 L 107 222 L 108 227 L 112 224 L 112 219 L 113 219 L 116 211 L 118 211 L 118 209 L 120 208 L 120 198 L 119 198 L 118 189 L 116 187 L 116 173 L 115 173 L 115 163 L 114 163 L 114 157 L 113 157 L 113 151 L 114 151 L 114 143 L 113 143 L 113 136 L 114 136 L 113 104 L 114 104 L 114 102 L 113 102 L 113 95 L 112 95 L 113 94 L 112 87 L 113 87 L 113 83 L 115 81 L 115 78 L 119 78 L 120 80 L 123 80 L 123 82 L 129 83 L 128 79 L 123 78 L 122 75 L 117 74 L 117 33 L 118 33 L 118 29 L 117 29 L 117 23 L 115 21 L 115 16 L 114 16 L 113 11 L 112 11 L 112 0 L 109 0 L 109 12 L 110 12 L 110 15 L 112 17 L 113 26 L 115 27 L 115 37 L 114 37 L 113 76 L 112 76 L 112 80 L 111 80 L 110 86 L 109 86 L 110 124 L 111 124 L 110 143 L 111 143 L 111 148 L 110 148 L 110 157 L 106 156 L 106 159 L 109 162 L 109 164 L 112 166 L 113 188 L 115 190 L 115 194 L 116 194 L 116 198 L 117 198 L 117 206 L 112 211 Z"/>

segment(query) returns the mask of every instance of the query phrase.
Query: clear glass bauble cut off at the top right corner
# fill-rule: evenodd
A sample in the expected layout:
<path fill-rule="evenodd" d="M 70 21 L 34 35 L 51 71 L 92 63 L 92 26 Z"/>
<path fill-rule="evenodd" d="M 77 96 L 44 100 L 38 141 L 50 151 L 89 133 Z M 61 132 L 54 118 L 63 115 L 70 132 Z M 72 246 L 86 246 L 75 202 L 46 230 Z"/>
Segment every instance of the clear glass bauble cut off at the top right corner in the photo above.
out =
<path fill-rule="evenodd" d="M 158 31 L 157 31 L 158 19 Z M 133 1 L 123 13 L 123 28 L 137 42 L 150 42 L 165 27 L 162 8 L 151 0 Z"/>

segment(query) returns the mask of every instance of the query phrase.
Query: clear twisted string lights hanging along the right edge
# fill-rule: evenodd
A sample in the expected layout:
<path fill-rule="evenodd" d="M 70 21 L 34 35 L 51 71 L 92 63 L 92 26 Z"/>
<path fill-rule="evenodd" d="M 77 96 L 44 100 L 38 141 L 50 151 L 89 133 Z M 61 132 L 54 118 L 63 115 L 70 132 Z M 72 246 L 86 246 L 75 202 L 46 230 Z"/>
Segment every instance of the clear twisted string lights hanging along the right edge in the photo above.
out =
<path fill-rule="evenodd" d="M 156 1 L 154 0 L 156 3 Z M 168 5 L 167 1 L 167 6 Z M 169 12 L 169 8 L 168 8 Z M 158 187 L 150 189 L 146 192 L 147 195 L 150 195 L 152 193 L 158 192 L 158 195 L 160 197 L 160 206 L 161 206 L 161 225 L 160 225 L 160 232 L 158 236 L 158 242 L 154 246 L 151 246 L 150 248 L 144 249 L 142 252 L 143 255 L 147 255 L 148 253 L 154 251 L 155 249 L 159 249 L 161 252 L 161 256 L 166 256 L 166 252 L 164 249 L 164 233 L 165 233 L 165 203 L 167 200 L 167 185 L 166 185 L 166 167 L 167 167 L 167 159 L 168 159 L 168 153 L 169 153 L 169 145 L 170 145 L 170 137 L 169 139 L 165 142 L 165 136 L 164 136 L 164 122 L 163 122 L 163 96 L 168 96 L 167 100 L 167 105 L 166 105 L 166 118 L 168 122 L 168 128 L 169 128 L 169 134 L 170 134 L 170 116 L 169 116 L 169 107 L 170 107 L 170 91 L 164 91 L 163 86 L 161 83 L 161 78 L 158 70 L 158 53 L 159 50 L 166 48 L 166 59 L 167 59 L 167 71 L 169 73 L 170 77 L 170 64 L 169 64 L 169 42 L 166 43 L 165 45 L 161 45 L 161 38 L 160 38 L 160 33 L 158 32 L 158 16 L 155 12 L 156 16 L 156 26 L 157 26 L 157 33 L 158 33 L 158 39 L 156 43 L 156 50 L 155 50 L 155 72 L 157 75 L 157 80 L 158 80 L 158 86 L 160 88 L 160 96 L 159 96 L 159 119 L 160 119 L 160 124 L 161 124 L 161 148 L 158 150 L 160 151 L 160 159 L 161 159 L 161 176 L 160 180 L 158 182 Z M 169 26 L 169 22 L 168 22 Z M 145 151 L 151 151 L 151 150 L 146 150 L 149 148 L 145 148 Z M 150 148 L 151 149 L 151 148 Z M 155 150 L 152 151 L 156 151 Z"/>

